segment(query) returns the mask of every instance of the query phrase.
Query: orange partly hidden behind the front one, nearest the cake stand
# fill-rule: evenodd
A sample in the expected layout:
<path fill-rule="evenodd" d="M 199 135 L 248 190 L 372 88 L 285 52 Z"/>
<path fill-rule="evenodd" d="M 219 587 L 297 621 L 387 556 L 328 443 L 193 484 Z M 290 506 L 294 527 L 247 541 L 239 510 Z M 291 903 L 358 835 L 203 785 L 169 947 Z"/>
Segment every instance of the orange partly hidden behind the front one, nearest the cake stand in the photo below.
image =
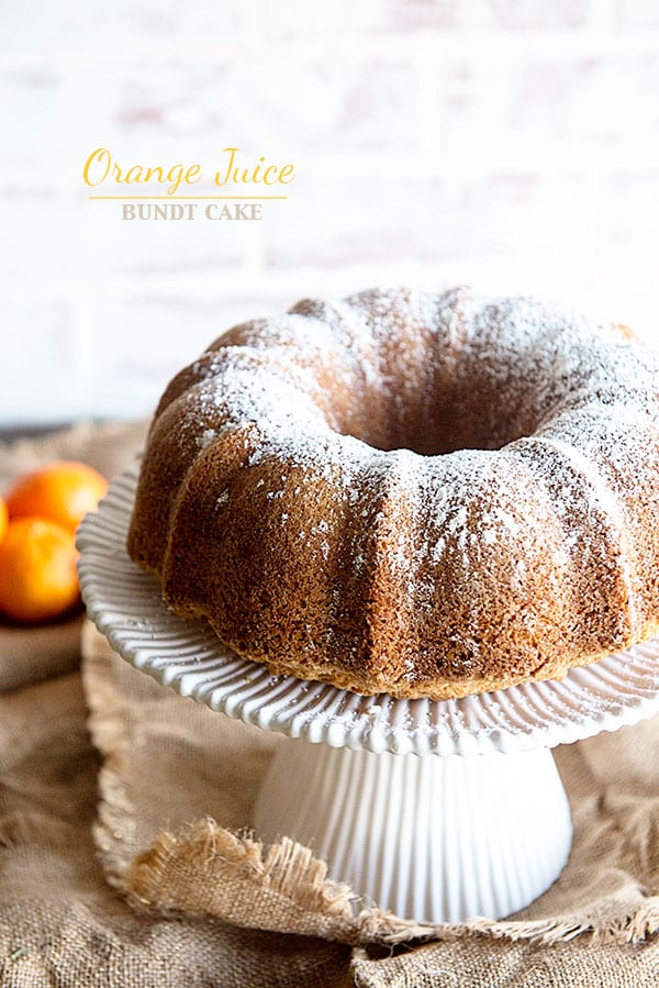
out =
<path fill-rule="evenodd" d="M 60 459 L 19 477 L 7 495 L 7 507 L 10 519 L 49 518 L 74 532 L 107 490 L 108 481 L 93 467 Z"/>

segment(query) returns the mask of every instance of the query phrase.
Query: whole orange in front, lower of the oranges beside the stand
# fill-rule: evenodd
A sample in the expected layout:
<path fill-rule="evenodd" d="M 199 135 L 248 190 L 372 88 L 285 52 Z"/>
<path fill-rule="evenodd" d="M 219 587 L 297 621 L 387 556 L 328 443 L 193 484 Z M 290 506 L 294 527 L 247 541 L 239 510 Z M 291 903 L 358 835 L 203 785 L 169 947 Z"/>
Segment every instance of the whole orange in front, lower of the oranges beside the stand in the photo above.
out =
<path fill-rule="evenodd" d="M 80 599 L 74 533 L 47 518 L 10 520 L 0 542 L 0 611 L 14 621 L 57 618 Z"/>

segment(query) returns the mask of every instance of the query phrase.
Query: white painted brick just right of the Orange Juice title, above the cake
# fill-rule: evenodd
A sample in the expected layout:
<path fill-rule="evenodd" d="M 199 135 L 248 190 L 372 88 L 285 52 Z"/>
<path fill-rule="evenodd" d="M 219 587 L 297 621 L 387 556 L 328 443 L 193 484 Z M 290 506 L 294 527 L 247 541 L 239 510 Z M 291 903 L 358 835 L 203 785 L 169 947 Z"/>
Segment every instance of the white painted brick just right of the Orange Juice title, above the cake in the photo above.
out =
<path fill-rule="evenodd" d="M 275 268 L 592 251 L 602 241 L 602 199 L 588 174 L 326 182 L 281 217 L 264 231 Z"/>

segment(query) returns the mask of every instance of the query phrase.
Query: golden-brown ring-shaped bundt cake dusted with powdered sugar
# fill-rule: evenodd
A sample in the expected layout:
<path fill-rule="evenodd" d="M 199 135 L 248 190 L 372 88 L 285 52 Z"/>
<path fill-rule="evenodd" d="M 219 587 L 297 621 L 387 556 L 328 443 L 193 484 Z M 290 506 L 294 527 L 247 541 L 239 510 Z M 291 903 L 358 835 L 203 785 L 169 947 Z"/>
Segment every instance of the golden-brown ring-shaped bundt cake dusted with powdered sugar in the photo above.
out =
<path fill-rule="evenodd" d="M 129 537 L 276 674 L 459 697 L 659 631 L 659 359 L 532 298 L 372 290 L 169 385 Z"/>

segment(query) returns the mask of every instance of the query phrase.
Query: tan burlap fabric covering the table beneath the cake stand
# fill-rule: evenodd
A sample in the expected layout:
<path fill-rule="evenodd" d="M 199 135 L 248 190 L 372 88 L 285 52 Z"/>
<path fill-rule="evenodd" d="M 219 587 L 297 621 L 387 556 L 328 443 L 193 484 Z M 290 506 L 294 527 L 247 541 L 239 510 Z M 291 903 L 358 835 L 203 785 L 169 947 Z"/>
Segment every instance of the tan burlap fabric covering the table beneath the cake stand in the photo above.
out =
<path fill-rule="evenodd" d="M 112 473 L 142 434 L 22 444 L 0 477 L 53 455 Z M 90 625 L 83 691 L 78 630 L 0 634 L 2 986 L 659 984 L 659 720 L 557 752 L 576 839 L 548 892 L 504 922 L 424 929 L 249 832 L 286 740 L 159 687 Z"/>

